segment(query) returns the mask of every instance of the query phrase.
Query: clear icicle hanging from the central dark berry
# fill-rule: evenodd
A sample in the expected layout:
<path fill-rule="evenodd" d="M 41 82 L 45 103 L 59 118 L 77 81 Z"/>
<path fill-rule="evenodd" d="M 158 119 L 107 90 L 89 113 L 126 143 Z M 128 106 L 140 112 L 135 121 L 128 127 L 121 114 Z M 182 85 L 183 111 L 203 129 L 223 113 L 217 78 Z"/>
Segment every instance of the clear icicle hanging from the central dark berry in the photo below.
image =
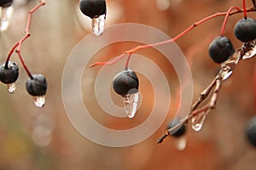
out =
<path fill-rule="evenodd" d="M 123 102 L 126 115 L 129 118 L 134 117 L 137 111 L 138 93 L 125 95 Z"/>

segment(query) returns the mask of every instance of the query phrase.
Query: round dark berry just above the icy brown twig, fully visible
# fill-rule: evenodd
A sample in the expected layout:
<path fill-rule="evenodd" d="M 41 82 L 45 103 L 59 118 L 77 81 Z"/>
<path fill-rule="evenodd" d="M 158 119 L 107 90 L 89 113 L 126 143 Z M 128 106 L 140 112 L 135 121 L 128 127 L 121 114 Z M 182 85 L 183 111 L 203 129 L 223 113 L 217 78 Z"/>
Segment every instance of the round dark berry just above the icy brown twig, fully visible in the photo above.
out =
<path fill-rule="evenodd" d="M 216 63 L 222 63 L 225 60 L 230 59 L 234 53 L 235 48 L 228 37 L 217 37 L 209 46 L 209 54 Z"/>

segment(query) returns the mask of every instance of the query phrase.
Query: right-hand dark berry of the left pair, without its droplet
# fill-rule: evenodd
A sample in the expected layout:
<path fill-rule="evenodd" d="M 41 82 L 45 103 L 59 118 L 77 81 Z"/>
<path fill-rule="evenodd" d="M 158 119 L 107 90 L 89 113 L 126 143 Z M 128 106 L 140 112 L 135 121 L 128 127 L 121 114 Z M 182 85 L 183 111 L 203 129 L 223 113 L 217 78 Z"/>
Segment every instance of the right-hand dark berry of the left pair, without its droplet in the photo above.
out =
<path fill-rule="evenodd" d="M 26 81 L 26 91 L 32 96 L 43 96 L 46 94 L 47 82 L 43 75 L 33 74 Z"/>

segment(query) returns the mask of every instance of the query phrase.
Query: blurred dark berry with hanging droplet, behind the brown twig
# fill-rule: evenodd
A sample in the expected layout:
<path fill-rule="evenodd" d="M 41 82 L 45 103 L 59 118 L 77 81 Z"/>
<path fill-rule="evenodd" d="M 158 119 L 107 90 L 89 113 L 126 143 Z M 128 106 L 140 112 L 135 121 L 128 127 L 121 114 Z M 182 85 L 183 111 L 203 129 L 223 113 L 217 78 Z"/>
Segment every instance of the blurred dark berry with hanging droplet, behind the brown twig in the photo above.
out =
<path fill-rule="evenodd" d="M 174 119 L 172 122 L 170 122 L 167 129 L 177 126 L 178 122 L 179 121 L 177 119 Z M 186 145 L 187 145 L 187 138 L 185 135 L 186 128 L 187 128 L 186 125 L 183 124 L 176 131 L 173 131 L 171 133 L 171 135 L 175 138 L 175 146 L 177 150 L 184 150 L 186 148 Z"/>

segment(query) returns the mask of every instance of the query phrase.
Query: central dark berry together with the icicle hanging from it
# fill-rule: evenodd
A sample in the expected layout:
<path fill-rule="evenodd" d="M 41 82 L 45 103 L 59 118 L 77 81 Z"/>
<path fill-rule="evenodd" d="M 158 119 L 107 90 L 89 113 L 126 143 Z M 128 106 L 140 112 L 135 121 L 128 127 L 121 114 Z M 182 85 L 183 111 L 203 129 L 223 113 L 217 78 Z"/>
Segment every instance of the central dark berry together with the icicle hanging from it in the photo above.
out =
<path fill-rule="evenodd" d="M 139 82 L 134 71 L 127 69 L 113 78 L 113 90 L 123 97 L 125 113 L 129 118 L 135 116 L 138 102 Z"/>

